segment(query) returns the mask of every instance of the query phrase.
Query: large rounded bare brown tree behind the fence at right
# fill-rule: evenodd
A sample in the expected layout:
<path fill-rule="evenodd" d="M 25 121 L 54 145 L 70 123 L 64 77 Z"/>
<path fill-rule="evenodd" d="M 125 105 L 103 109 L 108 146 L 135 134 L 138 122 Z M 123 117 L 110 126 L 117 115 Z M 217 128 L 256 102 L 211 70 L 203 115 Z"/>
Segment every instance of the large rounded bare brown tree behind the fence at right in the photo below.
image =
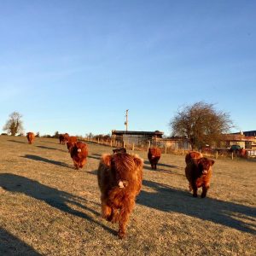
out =
<path fill-rule="evenodd" d="M 196 102 L 177 111 L 170 122 L 173 136 L 187 137 L 192 149 L 218 143 L 233 127 L 229 113 L 217 111 L 213 104 Z"/>

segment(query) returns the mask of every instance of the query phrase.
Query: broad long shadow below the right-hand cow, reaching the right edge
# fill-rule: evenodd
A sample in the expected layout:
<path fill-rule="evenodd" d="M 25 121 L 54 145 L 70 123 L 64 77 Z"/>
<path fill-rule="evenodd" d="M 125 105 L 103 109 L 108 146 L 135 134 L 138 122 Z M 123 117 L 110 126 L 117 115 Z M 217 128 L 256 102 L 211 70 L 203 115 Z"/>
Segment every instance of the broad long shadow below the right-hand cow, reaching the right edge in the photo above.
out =
<path fill-rule="evenodd" d="M 215 224 L 256 234 L 256 208 L 247 207 L 229 201 L 220 201 L 213 198 L 194 198 L 188 191 L 144 180 L 143 186 L 154 189 L 154 192 L 142 190 L 137 203 L 163 212 L 179 212 L 202 220 L 212 221 Z M 155 193 L 156 192 L 156 193 Z"/>

